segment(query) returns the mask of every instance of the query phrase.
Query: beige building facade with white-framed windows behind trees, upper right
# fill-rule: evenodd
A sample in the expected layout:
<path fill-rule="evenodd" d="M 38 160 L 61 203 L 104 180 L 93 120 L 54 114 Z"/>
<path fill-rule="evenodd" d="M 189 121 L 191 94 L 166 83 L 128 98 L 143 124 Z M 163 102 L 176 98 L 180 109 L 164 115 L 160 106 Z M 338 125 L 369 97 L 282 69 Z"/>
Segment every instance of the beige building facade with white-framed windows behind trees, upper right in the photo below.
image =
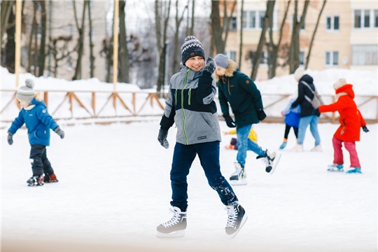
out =
<path fill-rule="evenodd" d="M 238 2 L 239 3 L 239 2 Z M 274 6 L 274 42 L 279 38 L 279 27 L 288 1 L 276 1 Z M 310 1 L 304 25 L 300 30 L 300 64 L 306 64 L 311 37 L 316 27 L 323 1 Z M 304 1 L 298 3 L 298 15 L 302 14 Z M 234 27 L 228 35 L 226 53 L 239 62 L 240 27 L 243 25 L 243 47 L 241 71 L 250 75 L 251 59 L 248 52 L 255 51 L 262 30 L 266 1 L 244 1 L 244 22 L 239 22 L 240 4 L 234 15 Z M 289 45 L 293 27 L 294 3 L 291 1 L 288 15 L 283 25 L 281 45 Z M 299 17 L 300 18 L 300 17 Z M 269 41 L 269 35 L 266 35 Z M 257 80 L 267 79 L 267 48 L 264 49 L 258 69 Z M 327 1 L 318 23 L 314 43 L 311 48 L 308 68 L 323 70 L 378 68 L 378 1 Z M 282 60 L 279 63 L 283 63 Z M 288 66 L 278 67 L 276 76 L 288 74 Z"/>

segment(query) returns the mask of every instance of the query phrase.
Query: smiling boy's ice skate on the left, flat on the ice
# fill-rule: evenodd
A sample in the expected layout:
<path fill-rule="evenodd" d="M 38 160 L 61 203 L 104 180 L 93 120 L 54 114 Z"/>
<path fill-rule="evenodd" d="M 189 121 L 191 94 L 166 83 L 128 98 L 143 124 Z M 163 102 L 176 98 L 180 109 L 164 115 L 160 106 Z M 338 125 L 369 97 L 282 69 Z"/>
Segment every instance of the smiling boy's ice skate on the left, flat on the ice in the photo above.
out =
<path fill-rule="evenodd" d="M 172 211 L 172 219 L 166 223 L 158 225 L 158 238 L 176 238 L 183 237 L 186 229 L 186 212 L 182 212 L 179 207 L 173 207 L 169 209 Z"/>

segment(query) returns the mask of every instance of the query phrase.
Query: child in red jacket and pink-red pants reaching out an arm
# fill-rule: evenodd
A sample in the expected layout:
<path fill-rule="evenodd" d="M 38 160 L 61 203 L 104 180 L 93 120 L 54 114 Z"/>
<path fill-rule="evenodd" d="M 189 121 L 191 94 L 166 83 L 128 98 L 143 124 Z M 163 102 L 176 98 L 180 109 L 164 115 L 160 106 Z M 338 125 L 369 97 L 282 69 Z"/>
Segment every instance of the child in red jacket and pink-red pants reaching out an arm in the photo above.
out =
<path fill-rule="evenodd" d="M 349 151 L 351 167 L 347 174 L 360 174 L 361 166 L 356 151 L 356 141 L 360 141 L 360 127 L 364 132 L 369 132 L 365 120 L 353 101 L 354 92 L 351 84 L 347 84 L 344 78 L 337 80 L 333 85 L 336 92 L 336 102 L 330 105 L 321 105 L 314 109 L 314 113 L 339 112 L 340 127 L 333 135 L 334 149 L 333 164 L 328 166 L 329 172 L 344 172 L 344 158 L 342 155 L 342 142 L 346 151 Z M 318 111 L 317 111 L 318 110 Z"/>

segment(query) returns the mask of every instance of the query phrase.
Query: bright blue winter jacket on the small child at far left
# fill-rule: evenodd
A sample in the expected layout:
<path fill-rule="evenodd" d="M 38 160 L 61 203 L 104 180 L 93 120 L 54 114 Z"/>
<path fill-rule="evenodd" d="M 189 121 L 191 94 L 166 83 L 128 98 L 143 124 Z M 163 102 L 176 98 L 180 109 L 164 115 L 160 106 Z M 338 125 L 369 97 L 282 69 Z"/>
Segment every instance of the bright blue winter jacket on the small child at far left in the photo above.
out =
<path fill-rule="evenodd" d="M 38 102 L 36 99 L 33 99 L 26 109 L 22 108 L 18 117 L 10 125 L 8 132 L 15 134 L 24 123 L 27 127 L 30 145 L 49 146 L 50 129 L 55 130 L 59 127 L 48 113 L 46 104 L 43 101 Z"/>

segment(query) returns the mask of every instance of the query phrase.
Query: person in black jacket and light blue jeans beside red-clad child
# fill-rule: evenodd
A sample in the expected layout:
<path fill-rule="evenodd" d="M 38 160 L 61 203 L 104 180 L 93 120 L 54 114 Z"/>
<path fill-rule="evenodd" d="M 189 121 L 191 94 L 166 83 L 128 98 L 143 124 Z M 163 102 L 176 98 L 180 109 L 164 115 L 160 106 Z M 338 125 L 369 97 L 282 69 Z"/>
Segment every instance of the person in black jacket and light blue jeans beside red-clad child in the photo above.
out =
<path fill-rule="evenodd" d="M 297 144 L 291 149 L 291 151 L 303 151 L 303 141 L 304 135 L 306 134 L 307 126 L 310 125 L 310 131 L 315 139 L 315 146 L 311 151 L 322 151 L 321 139 L 318 133 L 318 122 L 320 114 L 314 114 L 314 107 L 306 99 L 306 96 L 311 100 L 314 98 L 314 94 L 311 92 L 315 91 L 314 79 L 308 74 L 304 74 L 304 69 L 302 67 L 298 68 L 294 72 L 294 78 L 298 82 L 298 97 L 291 104 L 291 108 L 300 105 L 300 124 L 298 130 L 298 141 Z M 309 90 L 309 87 L 311 90 Z"/>

